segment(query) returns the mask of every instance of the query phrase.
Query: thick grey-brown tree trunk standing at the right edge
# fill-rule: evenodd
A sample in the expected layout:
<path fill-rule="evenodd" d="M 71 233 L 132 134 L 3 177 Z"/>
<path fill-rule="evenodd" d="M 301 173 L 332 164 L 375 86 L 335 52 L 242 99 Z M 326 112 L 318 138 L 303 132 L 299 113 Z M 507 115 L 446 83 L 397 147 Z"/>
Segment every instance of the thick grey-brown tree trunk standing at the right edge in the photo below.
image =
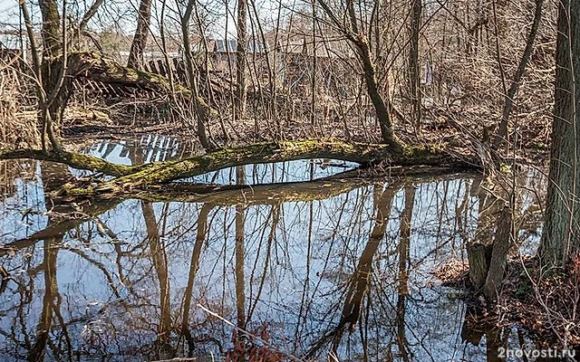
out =
<path fill-rule="evenodd" d="M 538 254 L 545 265 L 565 266 L 580 250 L 580 0 L 558 2 L 556 91 L 546 224 Z"/>

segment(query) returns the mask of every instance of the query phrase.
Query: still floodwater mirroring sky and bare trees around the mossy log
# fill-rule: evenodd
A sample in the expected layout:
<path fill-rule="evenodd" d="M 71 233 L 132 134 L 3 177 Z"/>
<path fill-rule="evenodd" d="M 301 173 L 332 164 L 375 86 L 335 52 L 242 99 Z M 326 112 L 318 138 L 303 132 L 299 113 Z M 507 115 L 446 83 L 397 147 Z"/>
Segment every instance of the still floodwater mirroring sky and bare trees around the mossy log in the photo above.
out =
<path fill-rule="evenodd" d="M 176 157 L 110 145 L 88 152 Z M 517 327 L 474 325 L 460 291 L 434 276 L 493 229 L 481 179 L 309 182 L 352 167 L 305 160 L 189 180 L 256 185 L 206 202 L 68 205 L 48 191 L 78 171 L 4 164 L 0 360 L 499 361 L 499 348 L 533 344 Z M 521 184 L 519 249 L 535 252 L 544 185 Z"/>

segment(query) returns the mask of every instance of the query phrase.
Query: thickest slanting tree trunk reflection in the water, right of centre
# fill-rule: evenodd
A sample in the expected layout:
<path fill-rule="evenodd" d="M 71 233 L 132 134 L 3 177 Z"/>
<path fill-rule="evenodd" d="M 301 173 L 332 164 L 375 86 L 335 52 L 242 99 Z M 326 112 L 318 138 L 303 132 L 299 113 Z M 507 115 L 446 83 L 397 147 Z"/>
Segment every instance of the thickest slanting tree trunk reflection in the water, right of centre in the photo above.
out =
<path fill-rule="evenodd" d="M 323 338 L 320 338 L 306 352 L 306 359 L 313 358 L 329 342 L 332 342 L 332 353 L 336 355 L 336 350 L 343 339 L 344 330 L 348 327 L 351 332 L 354 331 L 357 322 L 361 318 L 362 301 L 369 289 L 369 281 L 372 274 L 372 259 L 386 233 L 387 224 L 391 215 L 392 200 L 397 190 L 398 186 L 391 185 L 382 191 L 380 197 L 375 198 L 375 223 L 369 241 L 362 251 L 359 262 L 349 282 L 341 319 L 332 331 L 324 335 Z"/>

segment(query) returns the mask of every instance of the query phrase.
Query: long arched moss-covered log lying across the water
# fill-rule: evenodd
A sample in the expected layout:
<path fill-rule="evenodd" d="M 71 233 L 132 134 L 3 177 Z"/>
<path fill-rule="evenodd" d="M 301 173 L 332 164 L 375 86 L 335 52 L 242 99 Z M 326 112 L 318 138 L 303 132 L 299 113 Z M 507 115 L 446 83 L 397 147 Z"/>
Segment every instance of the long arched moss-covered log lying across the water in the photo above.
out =
<path fill-rule="evenodd" d="M 333 158 L 356 162 L 362 166 L 380 163 L 393 166 L 450 165 L 458 166 L 448 154 L 432 147 L 406 148 L 393 152 L 386 145 L 347 143 L 329 139 L 295 140 L 257 143 L 239 148 L 221 148 L 198 157 L 154 164 L 130 175 L 118 177 L 99 186 L 73 188 L 68 195 L 121 194 L 144 186 L 167 184 L 171 181 L 198 176 L 227 167 L 256 163 L 273 163 L 305 158 Z M 465 167 L 465 165 L 462 165 Z"/>

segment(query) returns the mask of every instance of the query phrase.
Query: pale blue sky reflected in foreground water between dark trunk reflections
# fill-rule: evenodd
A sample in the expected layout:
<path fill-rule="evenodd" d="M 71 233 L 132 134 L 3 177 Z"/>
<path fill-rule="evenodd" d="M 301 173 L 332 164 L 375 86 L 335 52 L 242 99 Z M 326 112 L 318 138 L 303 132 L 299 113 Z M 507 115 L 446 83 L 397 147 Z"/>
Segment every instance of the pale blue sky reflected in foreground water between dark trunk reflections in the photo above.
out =
<path fill-rule="evenodd" d="M 416 361 L 485 360 L 485 338 L 477 347 L 461 341 L 464 304 L 449 298 L 454 292 L 440 287 L 432 275 L 435 267 L 449 258 L 467 258 L 458 233 L 456 210 L 467 200 L 461 215 L 463 232 L 472 237 L 477 227 L 478 196 L 466 195 L 471 184 L 470 179 L 452 179 L 415 185 L 408 263 L 410 295 L 404 302 L 404 331 Z M 18 190 L 17 195 L 0 204 L 0 210 L 5 216 L 3 227 L 13 225 L 10 230 L 17 237 L 24 237 L 46 224 L 46 216 L 41 215 L 35 216 L 32 226 L 18 224 L 22 217 L 19 208 L 43 209 L 42 182 L 21 182 Z M 244 209 L 245 310 L 254 310 L 248 329 L 259 329 L 266 323 L 272 343 L 297 354 L 304 353 L 333 329 L 343 308 L 346 281 L 353 274 L 374 225 L 375 197 L 373 186 L 362 186 L 325 200 L 285 203 L 279 209 L 275 205 Z M 365 324 L 371 360 L 384 359 L 388 350 L 397 354 L 394 338 L 401 267 L 398 247 L 404 198 L 405 191 L 401 189 L 393 199 L 386 235 L 373 258 L 368 292 L 371 304 Z M 202 205 L 159 203 L 152 207 L 160 227 L 160 243 L 167 252 L 170 314 L 177 326 Z M 240 210 L 234 206 L 220 206 L 212 208 L 208 215 L 208 237 L 199 259 L 189 319 L 195 338 L 216 338 L 225 348 L 230 347 L 231 329 L 208 318 L 207 313 L 196 308 L 196 303 L 236 321 L 237 211 Z M 106 233 L 103 225 L 108 229 Z M 116 235 L 116 244 L 111 243 L 110 233 Z M 137 200 L 127 200 L 98 216 L 98 220 L 81 224 L 66 234 L 58 251 L 56 281 L 62 317 L 70 321 L 67 333 L 73 348 L 92 356 L 108 351 L 128 356 L 119 359 L 153 359 L 147 355 L 146 346 L 156 338 L 160 290 L 146 239 L 142 203 Z M 25 252 L 31 255 L 26 257 Z M 17 271 L 34 270 L 42 261 L 42 242 L 2 260 L 6 269 L 16 271 L 16 281 L 30 290 L 29 302 L 14 282 L 0 295 L 0 329 L 14 328 L 21 343 L 23 331 L 34 336 L 40 319 L 44 276 L 42 270 L 34 274 Z M 20 306 L 24 325 L 16 318 Z M 63 338 L 56 319 L 53 326 L 52 338 Z M 300 343 L 294 348 L 295 339 Z M 179 345 L 177 336 L 172 335 L 172 340 Z M 185 348 L 183 343 L 179 346 Z M 199 342 L 197 346 L 197 353 L 202 356 L 209 352 L 219 355 L 215 344 Z M 25 356 L 23 348 L 0 336 L 0 353 L 8 356 L 5 360 L 17 360 L 14 351 Z M 58 360 L 50 348 L 47 353 L 49 359 Z M 358 329 L 353 334 L 345 332 L 339 355 L 341 360 L 357 360 L 362 355 Z"/>

